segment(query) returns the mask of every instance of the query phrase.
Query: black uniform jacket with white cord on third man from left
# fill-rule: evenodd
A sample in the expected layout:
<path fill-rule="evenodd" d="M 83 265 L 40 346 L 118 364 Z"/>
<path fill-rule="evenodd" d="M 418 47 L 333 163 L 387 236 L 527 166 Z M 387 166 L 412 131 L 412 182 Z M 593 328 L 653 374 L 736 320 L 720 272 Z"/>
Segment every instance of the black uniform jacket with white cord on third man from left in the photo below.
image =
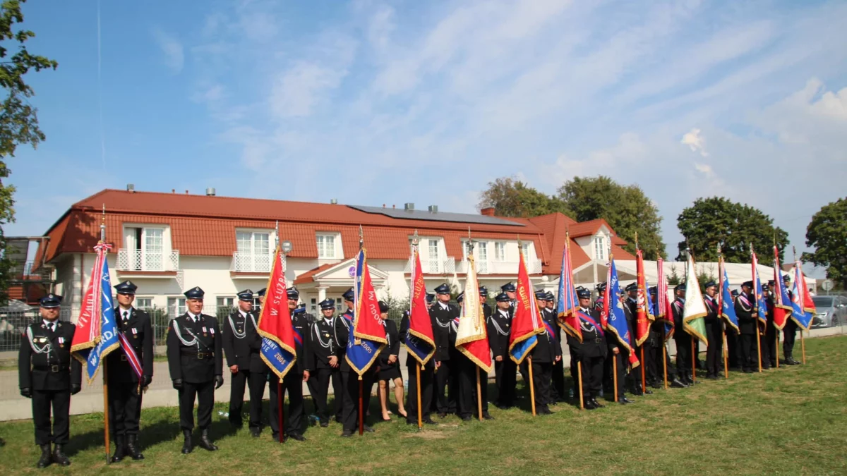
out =
<path fill-rule="evenodd" d="M 190 384 L 210 382 L 223 375 L 218 319 L 201 314 L 197 323 L 188 313 L 174 318 L 168 325 L 168 368 L 170 379 Z"/>

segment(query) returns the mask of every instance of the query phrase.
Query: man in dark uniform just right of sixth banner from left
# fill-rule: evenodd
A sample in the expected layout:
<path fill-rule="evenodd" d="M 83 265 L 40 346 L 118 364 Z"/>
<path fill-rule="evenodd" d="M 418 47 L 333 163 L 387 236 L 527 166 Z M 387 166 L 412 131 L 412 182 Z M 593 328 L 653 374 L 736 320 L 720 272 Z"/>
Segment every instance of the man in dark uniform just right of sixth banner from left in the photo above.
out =
<path fill-rule="evenodd" d="M 557 324 L 550 322 L 550 316 L 543 311 L 546 306 L 545 291 L 535 292 L 535 302 L 538 307 L 539 317 L 544 320 L 540 323 L 545 331 L 538 336 L 538 343 L 530 351 L 532 365 L 532 383 L 535 392 L 535 412 L 540 415 L 550 415 L 548 405 L 553 401 L 551 385 L 553 379 L 553 363 L 562 360 L 562 346 L 556 341 L 556 336 L 551 334 L 553 326 Z M 529 356 L 528 356 L 529 357 Z M 523 360 L 525 366 L 530 365 L 530 359 Z"/>

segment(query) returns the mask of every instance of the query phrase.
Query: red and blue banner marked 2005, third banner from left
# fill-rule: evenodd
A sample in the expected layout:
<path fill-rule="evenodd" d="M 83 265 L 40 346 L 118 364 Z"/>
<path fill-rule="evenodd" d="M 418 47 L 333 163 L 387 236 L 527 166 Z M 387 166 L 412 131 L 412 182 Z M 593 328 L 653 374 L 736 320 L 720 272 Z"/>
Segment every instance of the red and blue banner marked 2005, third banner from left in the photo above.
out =
<path fill-rule="evenodd" d="M 347 363 L 361 377 L 379 357 L 379 351 L 388 340 L 385 339 L 385 326 L 379 317 L 379 300 L 370 280 L 368 259 L 365 250 L 359 250 L 356 257 L 356 285 L 354 322 L 350 326 L 347 340 Z"/>

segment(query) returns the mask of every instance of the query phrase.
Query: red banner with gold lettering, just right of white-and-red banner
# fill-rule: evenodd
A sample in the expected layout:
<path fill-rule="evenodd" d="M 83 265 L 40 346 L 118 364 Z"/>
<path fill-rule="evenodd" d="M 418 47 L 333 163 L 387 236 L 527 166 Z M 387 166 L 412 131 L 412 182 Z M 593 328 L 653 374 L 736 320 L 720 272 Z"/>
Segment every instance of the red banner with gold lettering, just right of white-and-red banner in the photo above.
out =
<path fill-rule="evenodd" d="M 529 281 L 529 272 L 523 262 L 523 253 L 519 253 L 518 263 L 518 299 L 515 302 L 515 313 L 512 317 L 512 333 L 509 335 L 509 357 L 515 363 L 522 363 L 536 343 L 538 335 L 545 332 L 544 324 L 535 306 L 535 293 Z"/>

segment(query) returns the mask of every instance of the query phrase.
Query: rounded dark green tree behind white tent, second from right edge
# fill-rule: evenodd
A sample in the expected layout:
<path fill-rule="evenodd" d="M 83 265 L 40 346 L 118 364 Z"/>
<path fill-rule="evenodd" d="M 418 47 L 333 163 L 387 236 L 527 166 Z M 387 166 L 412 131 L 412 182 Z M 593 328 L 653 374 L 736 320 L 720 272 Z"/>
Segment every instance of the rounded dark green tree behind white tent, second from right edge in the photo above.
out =
<path fill-rule="evenodd" d="M 774 240 L 780 261 L 789 243 L 789 234 L 774 227 L 773 219 L 760 209 L 722 196 L 695 200 L 692 206 L 679 213 L 677 227 L 695 252 L 697 261 L 717 261 L 717 245 L 721 243 L 723 257 L 728 263 L 750 263 L 752 244 L 759 263 L 772 265 Z M 680 241 L 677 248 L 677 260 L 682 261 L 686 241 Z"/>

